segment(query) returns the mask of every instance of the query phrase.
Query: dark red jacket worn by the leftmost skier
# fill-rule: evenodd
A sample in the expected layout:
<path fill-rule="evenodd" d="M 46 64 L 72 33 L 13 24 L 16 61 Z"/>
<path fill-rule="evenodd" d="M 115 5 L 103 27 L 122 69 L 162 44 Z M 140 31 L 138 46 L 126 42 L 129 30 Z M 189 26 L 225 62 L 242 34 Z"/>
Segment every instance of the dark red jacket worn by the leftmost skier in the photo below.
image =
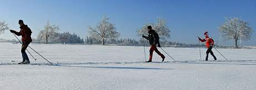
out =
<path fill-rule="evenodd" d="M 30 28 L 28 28 L 27 25 L 24 25 L 22 27 L 19 27 L 21 28 L 21 30 L 19 32 L 14 32 L 14 34 L 18 35 L 18 36 L 22 36 L 22 42 L 26 42 L 26 43 L 31 43 L 32 42 L 32 39 L 31 39 L 31 34 L 32 34 L 32 31 Z"/>

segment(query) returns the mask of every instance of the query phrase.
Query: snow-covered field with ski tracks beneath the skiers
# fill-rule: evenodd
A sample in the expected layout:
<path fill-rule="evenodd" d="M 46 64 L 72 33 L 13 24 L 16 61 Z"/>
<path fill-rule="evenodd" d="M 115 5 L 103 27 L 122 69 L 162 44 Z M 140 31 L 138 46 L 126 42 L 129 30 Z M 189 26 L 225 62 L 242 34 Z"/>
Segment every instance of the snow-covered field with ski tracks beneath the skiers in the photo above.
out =
<path fill-rule="evenodd" d="M 154 53 L 145 63 L 140 46 L 31 44 L 51 61 L 32 52 L 22 61 L 20 44 L 0 43 L 0 89 L 256 89 L 256 49 L 215 50 L 219 61 L 199 61 L 199 49 L 163 48 L 166 62 Z M 146 47 L 147 59 L 149 47 Z M 205 49 L 201 50 L 202 59 Z M 213 60 L 209 56 L 209 60 Z"/>

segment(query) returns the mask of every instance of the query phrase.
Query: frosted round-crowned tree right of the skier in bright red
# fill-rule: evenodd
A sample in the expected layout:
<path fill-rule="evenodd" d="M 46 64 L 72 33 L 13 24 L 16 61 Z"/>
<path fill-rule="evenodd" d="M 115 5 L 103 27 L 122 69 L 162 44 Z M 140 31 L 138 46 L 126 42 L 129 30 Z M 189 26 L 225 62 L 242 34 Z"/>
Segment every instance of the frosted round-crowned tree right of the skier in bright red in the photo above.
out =
<path fill-rule="evenodd" d="M 238 40 L 249 40 L 253 33 L 249 23 L 241 18 L 226 18 L 225 23 L 218 29 L 222 39 L 235 41 L 235 48 L 238 48 Z"/>

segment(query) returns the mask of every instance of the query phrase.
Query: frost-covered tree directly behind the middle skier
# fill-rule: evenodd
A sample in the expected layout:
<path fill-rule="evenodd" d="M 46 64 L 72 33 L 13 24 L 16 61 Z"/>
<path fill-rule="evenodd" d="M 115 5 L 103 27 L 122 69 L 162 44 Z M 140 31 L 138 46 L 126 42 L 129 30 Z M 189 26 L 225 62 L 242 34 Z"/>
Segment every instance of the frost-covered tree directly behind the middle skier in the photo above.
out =
<path fill-rule="evenodd" d="M 157 18 L 156 23 L 146 23 L 141 29 L 137 31 L 137 35 L 141 36 L 142 34 L 147 33 L 147 26 L 151 25 L 152 29 L 159 34 L 161 43 L 166 43 L 167 39 L 170 38 L 170 29 L 166 25 L 164 18 Z M 164 45 L 164 44 L 163 44 Z"/>

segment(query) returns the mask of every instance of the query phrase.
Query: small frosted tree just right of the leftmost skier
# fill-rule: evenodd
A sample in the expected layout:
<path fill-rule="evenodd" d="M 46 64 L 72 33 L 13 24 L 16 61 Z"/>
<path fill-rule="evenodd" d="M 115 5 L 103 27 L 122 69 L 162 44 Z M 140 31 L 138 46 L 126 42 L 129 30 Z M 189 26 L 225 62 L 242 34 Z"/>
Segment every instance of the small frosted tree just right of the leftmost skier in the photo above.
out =
<path fill-rule="evenodd" d="M 57 33 L 60 30 L 59 26 L 51 25 L 50 22 L 47 22 L 45 25 L 45 29 L 40 31 L 40 35 L 38 38 L 45 39 L 45 43 L 48 44 L 48 39 L 51 35 Z"/>

